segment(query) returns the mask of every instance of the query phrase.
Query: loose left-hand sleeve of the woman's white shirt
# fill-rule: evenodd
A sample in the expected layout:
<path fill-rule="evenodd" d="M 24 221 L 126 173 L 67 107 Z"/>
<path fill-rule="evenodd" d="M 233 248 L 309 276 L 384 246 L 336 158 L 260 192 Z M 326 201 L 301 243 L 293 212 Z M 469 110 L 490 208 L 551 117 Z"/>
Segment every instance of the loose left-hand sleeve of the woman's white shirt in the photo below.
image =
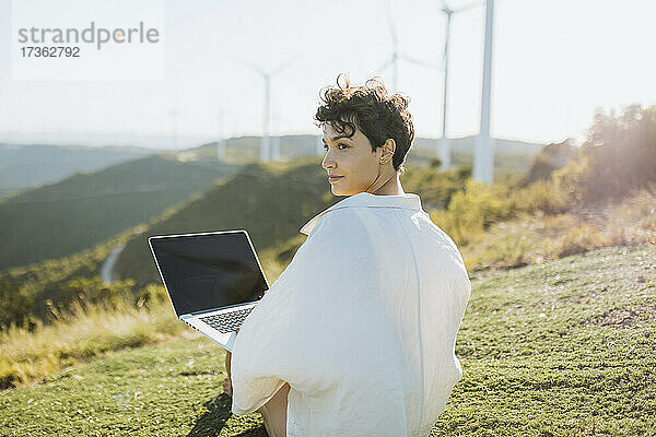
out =
<path fill-rule="evenodd" d="M 232 412 L 257 411 L 290 382 L 320 392 L 340 371 L 340 308 L 371 283 L 366 233 L 352 212 L 325 214 L 244 321 L 232 353 Z M 358 280 L 354 280 L 356 277 Z"/>

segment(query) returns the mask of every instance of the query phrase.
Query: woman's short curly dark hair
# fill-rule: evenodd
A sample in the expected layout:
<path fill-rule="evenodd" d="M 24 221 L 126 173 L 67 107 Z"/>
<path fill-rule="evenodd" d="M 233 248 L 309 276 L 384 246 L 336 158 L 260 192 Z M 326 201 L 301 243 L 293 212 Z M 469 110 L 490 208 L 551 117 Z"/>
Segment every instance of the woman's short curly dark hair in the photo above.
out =
<path fill-rule="evenodd" d="M 343 86 L 341 78 L 345 80 Z M 359 128 L 372 143 L 372 152 L 391 138 L 396 143 L 393 166 L 403 173 L 403 162 L 414 140 L 412 116 L 408 111 L 410 97 L 390 95 L 376 78 L 368 79 L 363 86 L 351 86 L 349 76 L 343 73 L 337 76 L 337 86 L 323 88 L 319 97 L 321 104 L 315 114 L 319 127 L 328 122 L 340 133 L 349 128 L 349 138 Z"/>

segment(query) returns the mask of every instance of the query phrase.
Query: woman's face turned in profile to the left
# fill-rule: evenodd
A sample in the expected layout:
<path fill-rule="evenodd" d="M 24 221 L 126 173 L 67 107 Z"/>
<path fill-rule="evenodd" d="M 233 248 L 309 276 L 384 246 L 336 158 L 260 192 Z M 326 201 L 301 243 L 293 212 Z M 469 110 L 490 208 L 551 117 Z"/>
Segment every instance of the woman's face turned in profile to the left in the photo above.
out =
<path fill-rule="evenodd" d="M 321 167 L 329 176 L 340 176 L 328 180 L 335 196 L 352 196 L 366 191 L 383 169 L 378 160 L 383 156 L 384 147 L 376 147 L 376 151 L 372 152 L 372 143 L 360 129 L 356 129 L 351 138 L 345 133 L 350 133 L 348 127 L 344 132 L 337 132 L 332 125 L 324 125 L 326 156 Z M 389 157 L 385 155 L 385 158 Z"/>

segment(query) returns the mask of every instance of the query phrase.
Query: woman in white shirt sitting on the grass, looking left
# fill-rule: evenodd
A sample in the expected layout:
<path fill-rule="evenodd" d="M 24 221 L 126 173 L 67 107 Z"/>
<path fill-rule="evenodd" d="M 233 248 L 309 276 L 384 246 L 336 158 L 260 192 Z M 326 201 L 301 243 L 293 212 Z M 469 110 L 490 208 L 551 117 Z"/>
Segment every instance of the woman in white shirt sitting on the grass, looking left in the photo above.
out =
<path fill-rule="evenodd" d="M 471 284 L 453 240 L 403 192 L 409 99 L 370 80 L 323 93 L 332 193 L 226 355 L 232 411 L 271 437 L 426 436 L 461 378 Z M 232 361 L 232 363 L 231 363 Z"/>

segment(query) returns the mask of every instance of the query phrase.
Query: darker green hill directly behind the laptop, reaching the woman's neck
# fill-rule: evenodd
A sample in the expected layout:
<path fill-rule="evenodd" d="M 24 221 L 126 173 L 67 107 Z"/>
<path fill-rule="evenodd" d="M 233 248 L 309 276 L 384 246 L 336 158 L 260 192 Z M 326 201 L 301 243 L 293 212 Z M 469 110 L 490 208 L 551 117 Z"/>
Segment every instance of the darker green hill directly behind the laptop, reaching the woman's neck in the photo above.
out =
<path fill-rule="evenodd" d="M 341 199 L 330 192 L 316 157 L 266 166 L 249 164 L 134 235 L 116 261 L 115 277 L 133 279 L 139 285 L 160 282 L 148 237 L 164 234 L 246 229 L 265 259 L 265 270 L 269 270 L 269 261 L 286 264 L 304 239 L 298 233 L 301 226 Z M 271 259 L 271 250 L 279 253 L 277 259 Z"/>

